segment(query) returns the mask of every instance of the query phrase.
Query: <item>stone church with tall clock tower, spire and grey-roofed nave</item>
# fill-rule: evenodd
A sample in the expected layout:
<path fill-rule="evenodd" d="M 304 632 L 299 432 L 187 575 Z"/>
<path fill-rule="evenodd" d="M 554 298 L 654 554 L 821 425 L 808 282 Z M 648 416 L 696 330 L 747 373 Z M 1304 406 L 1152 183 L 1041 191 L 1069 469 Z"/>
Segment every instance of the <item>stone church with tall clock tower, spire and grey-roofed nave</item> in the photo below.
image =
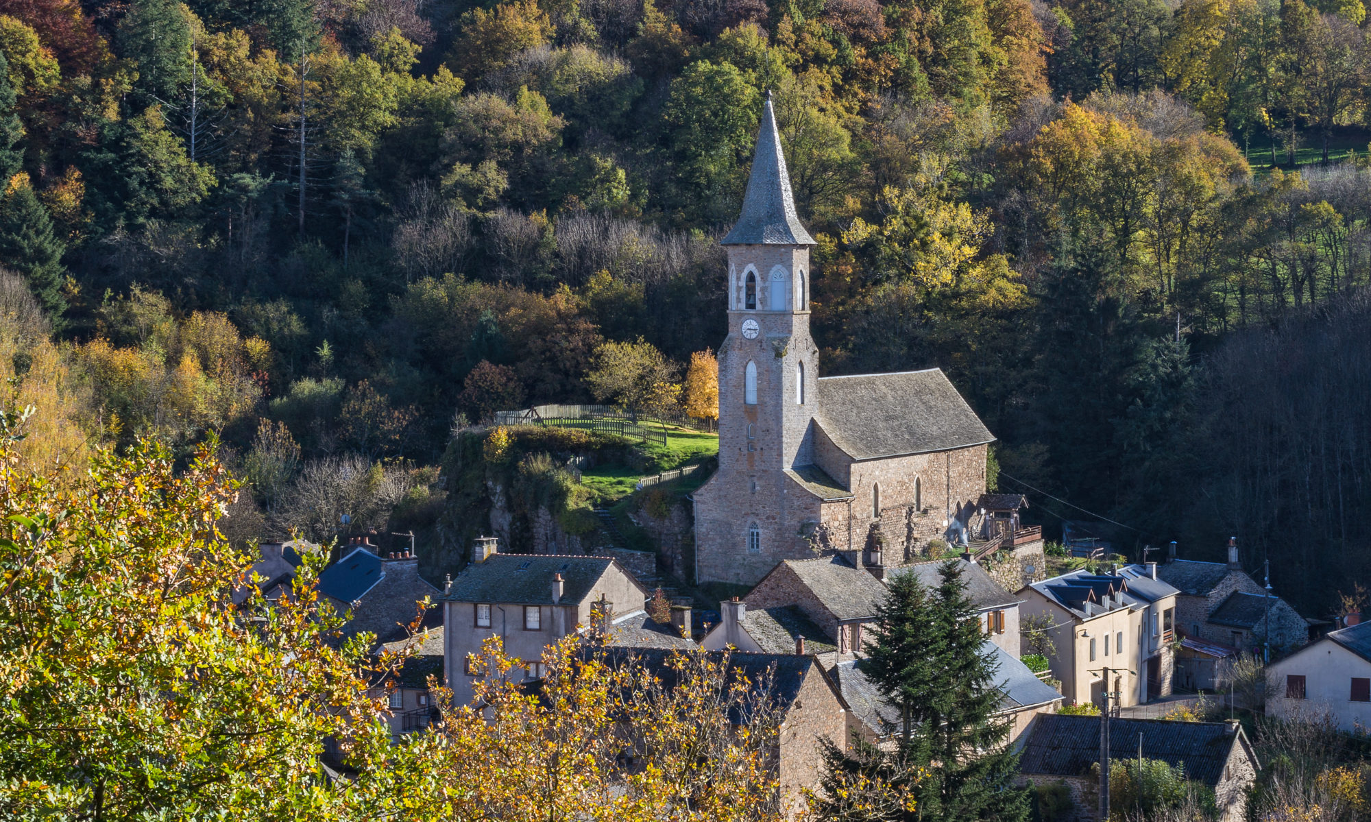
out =
<path fill-rule="evenodd" d="M 768 95 L 728 251 L 718 470 L 694 493 L 695 581 L 751 585 L 816 552 L 882 563 L 965 533 L 994 440 L 939 369 L 818 377 L 813 237 L 795 215 Z"/>

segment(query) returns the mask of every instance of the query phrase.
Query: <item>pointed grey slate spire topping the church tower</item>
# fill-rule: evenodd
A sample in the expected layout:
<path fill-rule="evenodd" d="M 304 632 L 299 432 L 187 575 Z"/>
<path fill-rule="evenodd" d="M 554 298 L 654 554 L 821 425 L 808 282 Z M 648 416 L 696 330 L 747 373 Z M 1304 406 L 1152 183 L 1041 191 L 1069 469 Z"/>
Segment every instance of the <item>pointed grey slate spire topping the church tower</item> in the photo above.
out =
<path fill-rule="evenodd" d="M 766 92 L 762 127 L 757 133 L 757 153 L 753 155 L 753 170 L 747 178 L 743 212 L 733 230 L 724 237 L 723 245 L 814 245 L 814 238 L 795 215 L 795 199 L 790 193 L 790 174 L 786 171 L 786 153 L 780 147 L 771 92 Z"/>

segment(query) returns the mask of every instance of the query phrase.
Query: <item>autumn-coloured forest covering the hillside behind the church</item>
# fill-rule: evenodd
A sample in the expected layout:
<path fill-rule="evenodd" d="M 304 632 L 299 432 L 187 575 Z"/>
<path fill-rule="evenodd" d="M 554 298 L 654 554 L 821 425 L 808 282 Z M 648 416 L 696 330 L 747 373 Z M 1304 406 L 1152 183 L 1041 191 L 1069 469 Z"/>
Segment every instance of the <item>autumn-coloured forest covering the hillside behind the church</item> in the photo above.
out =
<path fill-rule="evenodd" d="M 230 533 L 429 540 L 454 432 L 690 401 L 772 90 L 825 374 L 945 369 L 1049 533 L 1371 577 L 1363 0 L 0 0 L 0 53 L 55 477 L 217 437 Z"/>

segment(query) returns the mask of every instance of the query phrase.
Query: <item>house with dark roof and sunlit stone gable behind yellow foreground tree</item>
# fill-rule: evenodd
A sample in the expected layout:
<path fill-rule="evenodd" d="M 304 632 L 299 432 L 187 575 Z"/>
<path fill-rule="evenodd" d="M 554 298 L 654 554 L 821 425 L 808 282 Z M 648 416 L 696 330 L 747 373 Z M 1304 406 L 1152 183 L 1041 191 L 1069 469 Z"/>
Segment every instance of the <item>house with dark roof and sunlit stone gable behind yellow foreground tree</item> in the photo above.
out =
<path fill-rule="evenodd" d="M 587 649 L 618 663 L 642 664 L 653 677 L 670 688 L 677 677 L 672 659 L 679 651 L 668 648 L 622 648 L 613 644 Z M 823 741 L 842 749 L 847 747 L 847 706 L 824 666 L 809 653 L 710 652 L 716 659 L 727 653 L 732 677 L 747 678 L 746 704 L 740 711 L 772 710 L 777 712 L 779 736 L 775 741 L 775 767 L 780 782 L 780 806 L 787 818 L 805 808 L 805 789 L 816 789 L 824 770 Z M 740 722 L 739 717 L 735 719 Z"/>

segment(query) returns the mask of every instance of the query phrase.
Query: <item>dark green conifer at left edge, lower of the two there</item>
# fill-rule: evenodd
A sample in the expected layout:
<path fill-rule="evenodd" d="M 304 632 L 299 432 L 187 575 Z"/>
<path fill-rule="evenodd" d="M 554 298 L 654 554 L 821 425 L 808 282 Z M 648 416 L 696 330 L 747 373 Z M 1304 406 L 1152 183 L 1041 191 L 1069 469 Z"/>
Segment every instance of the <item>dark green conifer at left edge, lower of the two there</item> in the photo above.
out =
<path fill-rule="evenodd" d="M 0 199 L 0 260 L 27 278 L 29 288 L 48 314 L 66 311 L 62 284 L 66 242 L 52 230 L 48 210 L 29 186 L 27 174 L 16 174 Z"/>

